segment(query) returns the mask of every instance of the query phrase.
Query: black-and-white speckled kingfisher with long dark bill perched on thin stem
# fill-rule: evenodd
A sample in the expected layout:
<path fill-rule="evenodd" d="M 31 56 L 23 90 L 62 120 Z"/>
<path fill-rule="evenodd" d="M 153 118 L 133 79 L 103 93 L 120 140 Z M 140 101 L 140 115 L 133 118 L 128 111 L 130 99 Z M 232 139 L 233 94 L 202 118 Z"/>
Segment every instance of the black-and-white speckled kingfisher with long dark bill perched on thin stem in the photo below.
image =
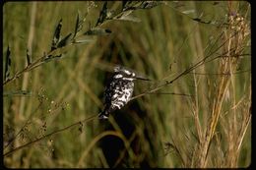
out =
<path fill-rule="evenodd" d="M 107 119 L 116 109 L 121 109 L 131 99 L 135 80 L 150 81 L 137 76 L 133 71 L 117 66 L 104 91 L 104 109 L 98 114 L 99 119 Z"/>

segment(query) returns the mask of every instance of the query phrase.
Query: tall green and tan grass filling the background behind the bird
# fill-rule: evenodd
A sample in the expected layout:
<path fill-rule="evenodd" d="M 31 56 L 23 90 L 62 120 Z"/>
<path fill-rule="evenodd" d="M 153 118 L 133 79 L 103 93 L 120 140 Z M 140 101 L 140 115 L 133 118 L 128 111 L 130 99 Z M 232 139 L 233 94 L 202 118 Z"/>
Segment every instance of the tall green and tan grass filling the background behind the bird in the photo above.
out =
<path fill-rule="evenodd" d="M 63 34 L 74 31 L 78 11 L 87 29 L 102 6 L 5 3 L 3 56 L 9 45 L 11 77 L 27 67 L 27 49 L 32 61 L 49 51 L 61 18 Z M 121 6 L 107 3 L 109 10 Z M 135 10 L 134 22 L 110 20 L 100 28 L 111 33 L 88 35 L 90 42 L 4 85 L 3 148 L 11 151 L 5 166 L 249 166 L 250 10 L 247 2 L 163 2 Z M 133 100 L 107 121 L 83 122 L 101 110 L 115 64 L 153 81 L 136 82 Z"/>

